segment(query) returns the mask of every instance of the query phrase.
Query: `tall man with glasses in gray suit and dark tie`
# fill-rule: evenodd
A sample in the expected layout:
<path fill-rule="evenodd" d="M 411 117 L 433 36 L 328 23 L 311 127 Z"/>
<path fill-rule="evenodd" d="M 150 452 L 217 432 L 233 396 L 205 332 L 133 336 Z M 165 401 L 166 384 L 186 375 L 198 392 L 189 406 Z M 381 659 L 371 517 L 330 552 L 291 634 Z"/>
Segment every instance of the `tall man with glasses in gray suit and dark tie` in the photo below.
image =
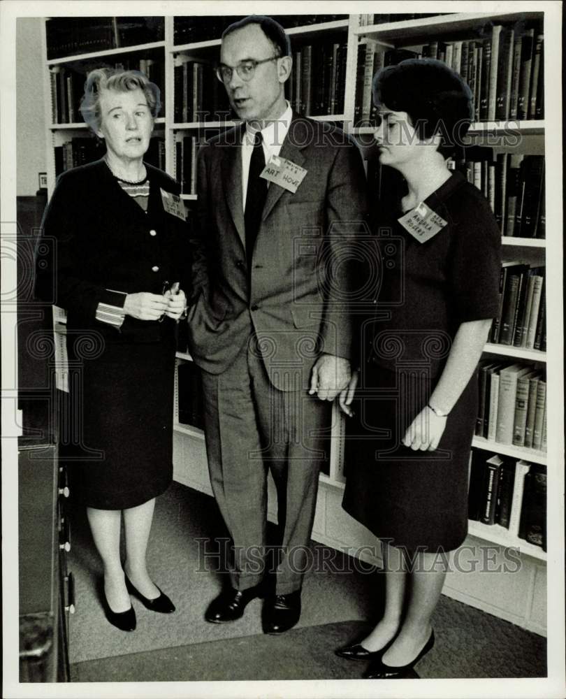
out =
<path fill-rule="evenodd" d="M 234 545 L 231 588 L 205 619 L 238 619 L 263 592 L 270 470 L 283 534 L 266 633 L 300 617 L 331 403 L 350 377 L 351 245 L 365 215 L 358 149 L 292 112 L 291 63 L 289 39 L 269 17 L 224 31 L 217 75 L 243 123 L 198 156 L 189 308 L 210 480 Z"/>

